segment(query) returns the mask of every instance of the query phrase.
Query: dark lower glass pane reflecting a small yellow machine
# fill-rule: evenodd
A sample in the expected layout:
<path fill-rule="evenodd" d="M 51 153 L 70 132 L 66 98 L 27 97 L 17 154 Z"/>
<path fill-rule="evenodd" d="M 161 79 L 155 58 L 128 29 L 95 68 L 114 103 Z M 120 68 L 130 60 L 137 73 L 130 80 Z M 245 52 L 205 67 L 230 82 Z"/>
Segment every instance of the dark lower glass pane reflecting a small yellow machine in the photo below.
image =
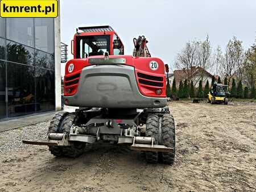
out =
<path fill-rule="evenodd" d="M 18 116 L 35 112 L 34 67 L 7 63 L 8 114 Z"/>

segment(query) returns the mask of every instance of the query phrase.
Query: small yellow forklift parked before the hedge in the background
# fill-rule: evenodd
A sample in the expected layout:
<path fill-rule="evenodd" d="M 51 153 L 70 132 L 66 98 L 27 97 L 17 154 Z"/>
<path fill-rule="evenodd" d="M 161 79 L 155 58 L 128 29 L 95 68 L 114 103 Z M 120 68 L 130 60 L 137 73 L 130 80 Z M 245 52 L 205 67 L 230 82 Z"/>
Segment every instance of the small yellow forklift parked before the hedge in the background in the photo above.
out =
<path fill-rule="evenodd" d="M 212 105 L 216 103 L 228 105 L 228 94 L 228 85 L 214 83 L 208 94 L 208 103 Z"/>

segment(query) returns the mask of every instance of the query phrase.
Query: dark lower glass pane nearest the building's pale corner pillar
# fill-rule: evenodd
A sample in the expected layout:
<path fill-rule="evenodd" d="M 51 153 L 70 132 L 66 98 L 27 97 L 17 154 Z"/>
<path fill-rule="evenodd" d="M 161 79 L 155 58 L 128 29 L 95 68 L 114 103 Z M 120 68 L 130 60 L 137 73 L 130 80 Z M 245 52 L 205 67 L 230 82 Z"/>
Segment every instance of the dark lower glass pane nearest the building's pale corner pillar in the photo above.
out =
<path fill-rule="evenodd" d="M 55 73 L 52 70 L 36 68 L 36 111 L 55 110 Z"/>

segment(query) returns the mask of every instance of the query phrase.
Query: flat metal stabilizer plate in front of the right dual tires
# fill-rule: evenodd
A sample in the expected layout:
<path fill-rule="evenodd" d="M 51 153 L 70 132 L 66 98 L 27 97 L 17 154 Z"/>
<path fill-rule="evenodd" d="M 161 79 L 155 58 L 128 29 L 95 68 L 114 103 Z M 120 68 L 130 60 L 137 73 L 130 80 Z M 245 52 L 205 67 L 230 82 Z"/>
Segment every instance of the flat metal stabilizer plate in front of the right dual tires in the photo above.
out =
<path fill-rule="evenodd" d="M 133 144 L 130 148 L 134 151 L 174 152 L 174 148 L 164 145 Z"/>

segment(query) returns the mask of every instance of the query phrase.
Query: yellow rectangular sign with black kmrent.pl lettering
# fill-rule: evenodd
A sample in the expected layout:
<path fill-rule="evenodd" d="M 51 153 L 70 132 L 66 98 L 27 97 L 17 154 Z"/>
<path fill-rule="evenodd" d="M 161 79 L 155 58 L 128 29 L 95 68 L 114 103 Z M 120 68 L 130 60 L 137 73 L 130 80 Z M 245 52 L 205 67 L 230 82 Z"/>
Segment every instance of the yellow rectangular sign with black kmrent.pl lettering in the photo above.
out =
<path fill-rule="evenodd" d="M 57 0 L 2 0 L 0 1 L 0 16 L 3 18 L 56 18 L 58 2 Z"/>

